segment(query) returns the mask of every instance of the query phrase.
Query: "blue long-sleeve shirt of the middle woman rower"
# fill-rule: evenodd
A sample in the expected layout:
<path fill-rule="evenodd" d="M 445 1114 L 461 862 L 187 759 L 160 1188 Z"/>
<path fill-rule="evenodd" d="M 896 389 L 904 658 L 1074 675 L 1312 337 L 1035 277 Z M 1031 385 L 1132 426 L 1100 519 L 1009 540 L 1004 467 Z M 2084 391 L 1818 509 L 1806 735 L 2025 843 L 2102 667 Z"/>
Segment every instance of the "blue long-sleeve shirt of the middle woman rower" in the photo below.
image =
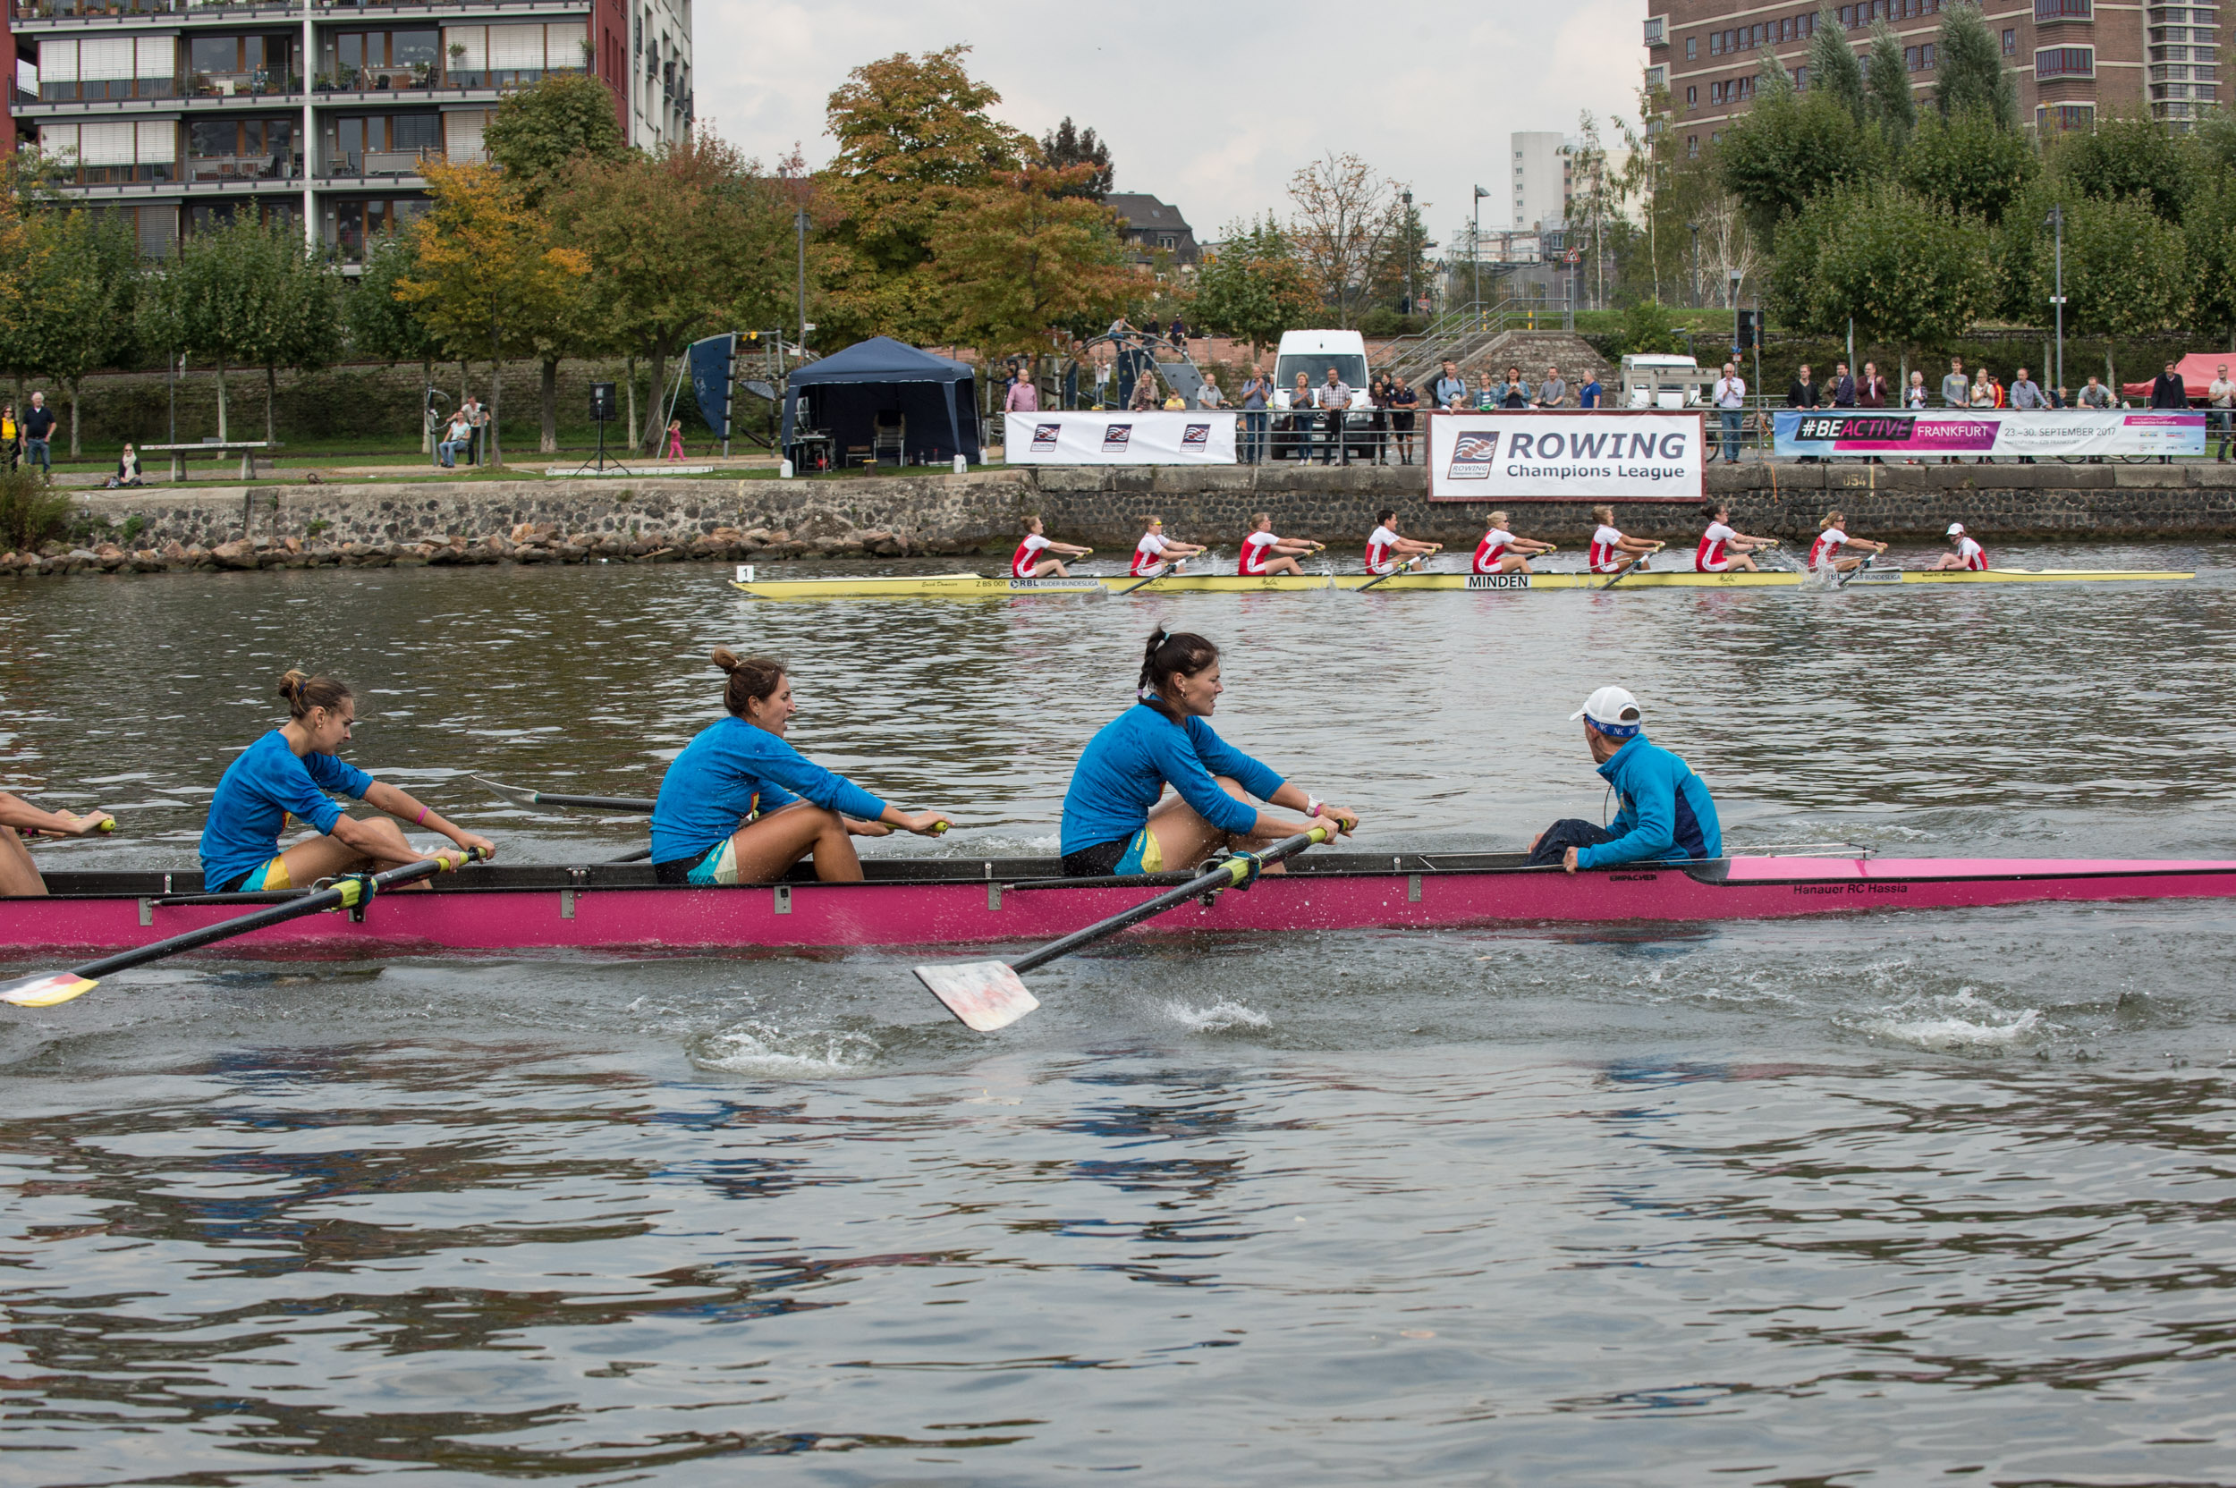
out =
<path fill-rule="evenodd" d="M 767 728 L 736 715 L 709 724 L 684 744 L 660 782 L 660 800 L 653 802 L 653 862 L 704 858 L 754 811 L 776 811 L 796 800 L 865 822 L 885 813 L 885 802 Z"/>

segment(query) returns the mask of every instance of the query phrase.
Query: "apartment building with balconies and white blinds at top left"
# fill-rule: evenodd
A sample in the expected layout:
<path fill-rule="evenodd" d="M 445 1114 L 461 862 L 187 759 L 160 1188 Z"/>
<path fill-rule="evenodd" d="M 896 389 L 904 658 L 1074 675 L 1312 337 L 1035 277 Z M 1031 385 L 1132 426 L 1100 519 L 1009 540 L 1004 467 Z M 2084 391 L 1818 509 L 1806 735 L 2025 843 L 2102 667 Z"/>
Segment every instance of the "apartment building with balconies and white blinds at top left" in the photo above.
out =
<path fill-rule="evenodd" d="M 342 264 L 479 161 L 503 96 L 595 71 L 631 143 L 691 127 L 689 0 L 7 0 L 13 130 L 150 257 L 241 210 Z"/>

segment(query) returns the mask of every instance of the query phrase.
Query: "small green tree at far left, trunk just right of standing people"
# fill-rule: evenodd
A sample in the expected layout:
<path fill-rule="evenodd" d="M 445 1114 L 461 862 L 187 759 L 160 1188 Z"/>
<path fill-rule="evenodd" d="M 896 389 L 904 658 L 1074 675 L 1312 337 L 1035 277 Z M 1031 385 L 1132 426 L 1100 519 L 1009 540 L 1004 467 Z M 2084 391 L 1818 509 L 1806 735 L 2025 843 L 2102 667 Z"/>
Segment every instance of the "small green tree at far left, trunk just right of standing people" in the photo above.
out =
<path fill-rule="evenodd" d="M 25 357 L 69 395 L 69 458 L 78 458 L 78 387 L 85 373 L 132 357 L 139 239 L 121 219 L 47 208 L 27 223 L 38 266 L 29 284 L 38 315 L 25 324 Z"/>

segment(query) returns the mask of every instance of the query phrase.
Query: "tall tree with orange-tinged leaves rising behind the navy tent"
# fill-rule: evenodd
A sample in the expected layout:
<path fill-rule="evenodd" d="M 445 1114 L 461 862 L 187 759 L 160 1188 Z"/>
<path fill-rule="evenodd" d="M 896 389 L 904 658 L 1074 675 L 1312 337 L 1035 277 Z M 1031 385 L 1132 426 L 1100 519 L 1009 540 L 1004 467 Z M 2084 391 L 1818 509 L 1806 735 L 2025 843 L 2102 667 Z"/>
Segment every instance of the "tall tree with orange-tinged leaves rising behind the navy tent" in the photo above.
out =
<path fill-rule="evenodd" d="M 827 335 L 937 340 L 946 326 L 932 273 L 939 219 L 1035 152 L 986 112 L 1002 94 L 964 69 L 968 51 L 899 51 L 856 67 L 830 96 L 825 121 L 839 152 L 818 181 Z"/>

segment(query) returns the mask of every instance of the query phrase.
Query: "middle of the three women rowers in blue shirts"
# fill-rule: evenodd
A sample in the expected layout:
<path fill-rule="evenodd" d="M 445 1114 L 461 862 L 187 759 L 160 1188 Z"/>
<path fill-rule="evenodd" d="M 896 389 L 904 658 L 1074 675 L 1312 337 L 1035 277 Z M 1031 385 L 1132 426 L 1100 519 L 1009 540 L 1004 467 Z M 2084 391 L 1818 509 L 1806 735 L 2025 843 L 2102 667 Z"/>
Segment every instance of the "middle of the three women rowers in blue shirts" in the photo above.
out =
<path fill-rule="evenodd" d="M 729 675 L 729 717 L 698 733 L 669 764 L 653 802 L 653 874 L 660 883 L 776 883 L 805 856 L 818 883 L 861 883 L 850 838 L 894 827 L 937 838 L 946 811 L 901 811 L 785 744 L 798 713 L 780 661 L 713 652 Z"/>

